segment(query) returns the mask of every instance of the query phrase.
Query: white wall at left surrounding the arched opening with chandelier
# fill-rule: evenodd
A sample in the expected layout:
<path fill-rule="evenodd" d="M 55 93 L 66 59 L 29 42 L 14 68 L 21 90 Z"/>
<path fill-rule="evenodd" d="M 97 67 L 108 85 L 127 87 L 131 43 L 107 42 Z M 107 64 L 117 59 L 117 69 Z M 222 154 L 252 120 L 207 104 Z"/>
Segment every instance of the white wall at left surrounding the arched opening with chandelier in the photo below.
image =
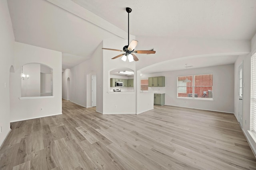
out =
<path fill-rule="evenodd" d="M 10 121 L 61 114 L 62 54 L 58 51 L 15 42 L 14 57 L 16 72 L 13 76 L 10 96 Z M 27 63 L 42 63 L 53 69 L 53 98 L 19 99 L 21 97 L 21 66 Z M 40 108 L 43 110 L 40 111 Z"/>

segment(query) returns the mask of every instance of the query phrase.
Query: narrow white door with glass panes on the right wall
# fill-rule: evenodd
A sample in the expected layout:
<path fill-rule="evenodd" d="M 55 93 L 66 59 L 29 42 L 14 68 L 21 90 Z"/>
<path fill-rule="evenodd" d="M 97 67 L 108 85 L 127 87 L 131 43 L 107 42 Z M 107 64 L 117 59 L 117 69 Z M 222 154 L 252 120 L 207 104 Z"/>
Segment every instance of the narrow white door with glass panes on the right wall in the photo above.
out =
<path fill-rule="evenodd" d="M 243 63 L 239 66 L 239 96 L 238 96 L 238 122 L 241 127 L 243 127 L 243 89 L 244 89 L 244 80 L 243 80 Z"/>

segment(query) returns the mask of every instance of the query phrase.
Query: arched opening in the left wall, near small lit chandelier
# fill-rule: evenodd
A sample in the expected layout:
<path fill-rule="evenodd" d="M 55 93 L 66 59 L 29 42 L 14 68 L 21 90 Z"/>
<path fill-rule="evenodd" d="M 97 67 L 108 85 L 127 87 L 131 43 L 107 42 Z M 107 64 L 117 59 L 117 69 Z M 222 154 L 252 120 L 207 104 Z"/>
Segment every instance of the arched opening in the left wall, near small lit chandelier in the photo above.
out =
<path fill-rule="evenodd" d="M 41 63 L 28 63 L 22 66 L 22 72 L 29 78 L 21 78 L 21 97 L 53 96 L 52 68 Z"/>

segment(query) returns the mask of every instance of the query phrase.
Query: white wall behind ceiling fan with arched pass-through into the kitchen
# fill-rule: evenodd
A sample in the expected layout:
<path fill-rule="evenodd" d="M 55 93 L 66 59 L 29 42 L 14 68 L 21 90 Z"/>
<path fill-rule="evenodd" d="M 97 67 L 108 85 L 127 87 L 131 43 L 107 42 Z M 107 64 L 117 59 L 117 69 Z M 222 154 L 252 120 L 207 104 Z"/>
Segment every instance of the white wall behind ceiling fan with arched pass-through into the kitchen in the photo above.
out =
<path fill-rule="evenodd" d="M 132 39 L 132 38 L 131 38 Z M 104 48 L 123 49 L 127 45 L 126 39 L 111 38 L 103 41 Z M 135 114 L 135 92 L 110 92 L 110 71 L 116 68 L 129 68 L 136 73 L 136 62 L 122 61 L 120 58 L 111 59 L 119 55 L 118 51 L 104 50 L 103 52 L 103 114 Z M 136 74 L 134 74 L 136 84 Z M 136 87 L 135 87 L 136 88 Z M 98 100 L 98 96 L 97 96 Z"/>

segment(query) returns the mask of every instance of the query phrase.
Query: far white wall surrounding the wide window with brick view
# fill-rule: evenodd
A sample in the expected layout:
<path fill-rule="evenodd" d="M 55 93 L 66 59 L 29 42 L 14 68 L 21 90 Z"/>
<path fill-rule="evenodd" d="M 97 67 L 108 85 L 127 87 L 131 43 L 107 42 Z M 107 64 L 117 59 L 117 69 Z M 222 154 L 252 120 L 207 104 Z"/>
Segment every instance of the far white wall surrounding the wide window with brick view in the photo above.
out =
<path fill-rule="evenodd" d="M 213 101 L 177 98 L 177 76 L 207 73 L 213 74 Z M 152 76 L 165 76 L 165 87 L 154 90 L 165 92 L 166 105 L 234 113 L 234 64 L 145 74 L 143 78 Z"/>

